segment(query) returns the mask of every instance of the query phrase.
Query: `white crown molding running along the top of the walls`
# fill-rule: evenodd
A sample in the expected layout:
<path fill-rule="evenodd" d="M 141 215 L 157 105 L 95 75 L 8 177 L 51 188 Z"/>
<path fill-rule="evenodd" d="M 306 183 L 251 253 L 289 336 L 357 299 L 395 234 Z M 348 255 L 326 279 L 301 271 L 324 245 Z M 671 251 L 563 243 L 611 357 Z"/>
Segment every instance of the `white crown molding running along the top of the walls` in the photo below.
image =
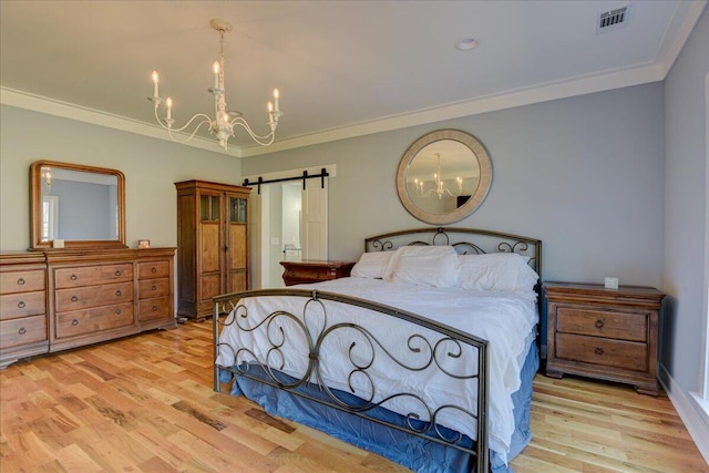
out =
<path fill-rule="evenodd" d="M 654 62 L 636 68 L 605 71 L 602 73 L 566 79 L 564 81 L 548 82 L 536 84 L 531 88 L 505 91 L 503 93 L 480 96 L 472 100 L 448 103 L 435 107 L 384 116 L 368 122 L 278 140 L 270 146 L 232 146 L 228 152 L 224 152 L 215 146 L 214 141 L 202 137 L 194 137 L 189 142 L 182 144 L 213 153 L 227 154 L 234 157 L 258 156 L 302 146 L 547 102 L 551 100 L 566 99 L 575 95 L 584 95 L 662 81 L 665 75 L 669 72 L 671 64 L 675 62 L 675 59 L 681 52 L 682 45 L 687 41 L 687 38 L 689 38 L 691 29 L 696 24 L 705 7 L 706 2 L 703 1 L 692 2 L 690 12 L 682 22 L 682 33 L 677 37 L 677 40 L 672 43 L 666 54 L 666 61 L 661 63 Z M 68 102 L 29 94 L 9 88 L 0 86 L 0 103 L 173 142 L 165 131 L 157 125 L 138 122 L 136 120 L 113 115 Z"/>

